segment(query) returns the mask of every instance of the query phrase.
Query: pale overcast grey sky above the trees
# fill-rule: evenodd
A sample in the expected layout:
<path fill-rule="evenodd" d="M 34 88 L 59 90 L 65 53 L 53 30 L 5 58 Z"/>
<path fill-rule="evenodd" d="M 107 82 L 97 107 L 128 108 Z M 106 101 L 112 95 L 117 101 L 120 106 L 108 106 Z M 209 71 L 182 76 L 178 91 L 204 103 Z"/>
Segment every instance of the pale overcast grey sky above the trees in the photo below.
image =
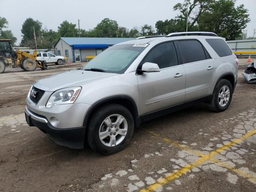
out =
<path fill-rule="evenodd" d="M 80 28 L 92 29 L 102 19 L 116 20 L 119 26 L 129 29 L 134 26 L 149 24 L 155 26 L 156 21 L 174 18 L 178 12 L 173 11 L 173 6 L 183 0 L 0 0 L 0 17 L 5 17 L 9 22 L 8 30 L 12 30 L 18 38 L 16 44 L 22 39 L 21 27 L 26 18 L 42 22 L 42 27 L 58 30 L 64 20 L 78 25 Z M 236 5 L 244 4 L 249 10 L 251 22 L 246 29 L 247 36 L 253 36 L 256 29 L 255 0 L 237 0 Z"/>

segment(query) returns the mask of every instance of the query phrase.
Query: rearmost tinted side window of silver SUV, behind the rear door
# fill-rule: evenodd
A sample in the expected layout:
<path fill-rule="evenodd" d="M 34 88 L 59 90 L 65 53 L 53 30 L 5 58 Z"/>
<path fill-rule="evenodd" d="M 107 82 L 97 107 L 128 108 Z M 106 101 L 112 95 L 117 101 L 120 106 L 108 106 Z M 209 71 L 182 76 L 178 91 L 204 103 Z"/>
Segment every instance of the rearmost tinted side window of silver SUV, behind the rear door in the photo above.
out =
<path fill-rule="evenodd" d="M 226 42 L 222 39 L 206 39 L 208 44 L 214 49 L 214 51 L 220 57 L 225 57 L 228 55 L 232 55 L 232 51 L 230 50 L 229 46 Z"/>

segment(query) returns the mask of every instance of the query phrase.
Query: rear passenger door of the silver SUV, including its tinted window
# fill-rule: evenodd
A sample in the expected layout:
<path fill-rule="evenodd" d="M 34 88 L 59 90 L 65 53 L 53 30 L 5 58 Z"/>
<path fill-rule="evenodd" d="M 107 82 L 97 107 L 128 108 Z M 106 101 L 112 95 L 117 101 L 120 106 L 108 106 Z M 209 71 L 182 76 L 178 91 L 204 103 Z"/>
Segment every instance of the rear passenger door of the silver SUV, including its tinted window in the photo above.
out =
<path fill-rule="evenodd" d="M 194 100 L 211 93 L 210 85 L 214 82 L 215 65 L 200 41 L 177 41 L 182 63 L 186 72 L 185 101 Z"/>

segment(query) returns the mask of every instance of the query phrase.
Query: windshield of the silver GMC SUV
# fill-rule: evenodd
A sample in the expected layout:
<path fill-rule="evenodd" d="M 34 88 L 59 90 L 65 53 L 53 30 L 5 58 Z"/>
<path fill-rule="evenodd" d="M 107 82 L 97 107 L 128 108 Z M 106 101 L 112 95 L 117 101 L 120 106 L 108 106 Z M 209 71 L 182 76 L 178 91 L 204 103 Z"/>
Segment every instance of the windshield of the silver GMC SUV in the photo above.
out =
<path fill-rule="evenodd" d="M 134 44 L 112 46 L 81 69 L 96 68 L 109 73 L 122 74 L 145 48 L 145 46 L 134 46 Z"/>

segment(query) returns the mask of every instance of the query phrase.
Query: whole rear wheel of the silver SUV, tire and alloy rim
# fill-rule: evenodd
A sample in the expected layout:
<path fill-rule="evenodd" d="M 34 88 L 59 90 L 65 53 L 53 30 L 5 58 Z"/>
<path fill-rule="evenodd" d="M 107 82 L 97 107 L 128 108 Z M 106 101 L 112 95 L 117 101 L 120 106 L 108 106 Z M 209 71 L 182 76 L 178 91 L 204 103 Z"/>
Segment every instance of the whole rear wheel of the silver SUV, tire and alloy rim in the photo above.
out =
<path fill-rule="evenodd" d="M 230 81 L 221 79 L 215 89 L 210 109 L 216 112 L 222 112 L 228 108 L 232 100 L 233 88 Z"/>

